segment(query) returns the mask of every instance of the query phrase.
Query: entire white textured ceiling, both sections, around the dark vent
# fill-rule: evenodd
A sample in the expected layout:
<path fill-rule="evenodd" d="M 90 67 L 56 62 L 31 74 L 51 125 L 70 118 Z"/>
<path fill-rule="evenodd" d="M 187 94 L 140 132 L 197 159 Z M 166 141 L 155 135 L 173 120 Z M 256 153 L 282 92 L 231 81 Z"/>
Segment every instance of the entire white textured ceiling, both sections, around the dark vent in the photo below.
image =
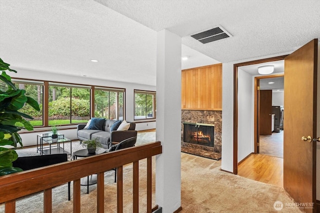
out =
<path fill-rule="evenodd" d="M 25 69 L 155 85 L 157 31 L 182 37 L 186 69 L 291 52 L 319 38 L 319 8 L 318 0 L 0 0 L 0 57 Z M 217 24 L 232 37 L 202 44 L 189 36 Z"/>

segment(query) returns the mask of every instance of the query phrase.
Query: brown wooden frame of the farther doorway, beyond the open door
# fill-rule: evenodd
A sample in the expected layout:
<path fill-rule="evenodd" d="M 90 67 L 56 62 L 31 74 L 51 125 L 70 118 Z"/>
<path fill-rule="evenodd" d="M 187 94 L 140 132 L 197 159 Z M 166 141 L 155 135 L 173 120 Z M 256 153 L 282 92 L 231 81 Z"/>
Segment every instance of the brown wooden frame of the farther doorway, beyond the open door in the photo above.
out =
<path fill-rule="evenodd" d="M 265 79 L 265 78 L 277 78 L 277 77 L 282 77 L 284 74 L 273 74 L 273 75 L 263 75 L 263 76 L 256 76 L 254 77 L 254 154 L 258 154 L 258 143 L 259 143 L 259 105 L 258 105 L 258 81 L 260 79 Z"/>

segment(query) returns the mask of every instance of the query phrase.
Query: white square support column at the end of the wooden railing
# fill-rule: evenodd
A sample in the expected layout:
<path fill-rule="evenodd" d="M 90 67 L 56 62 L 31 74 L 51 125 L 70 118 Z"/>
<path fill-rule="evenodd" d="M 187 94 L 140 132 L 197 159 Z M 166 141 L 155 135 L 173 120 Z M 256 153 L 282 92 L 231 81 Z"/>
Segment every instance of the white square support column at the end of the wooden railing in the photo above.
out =
<path fill-rule="evenodd" d="M 181 37 L 164 29 L 157 34 L 155 200 L 163 213 L 181 206 Z"/>

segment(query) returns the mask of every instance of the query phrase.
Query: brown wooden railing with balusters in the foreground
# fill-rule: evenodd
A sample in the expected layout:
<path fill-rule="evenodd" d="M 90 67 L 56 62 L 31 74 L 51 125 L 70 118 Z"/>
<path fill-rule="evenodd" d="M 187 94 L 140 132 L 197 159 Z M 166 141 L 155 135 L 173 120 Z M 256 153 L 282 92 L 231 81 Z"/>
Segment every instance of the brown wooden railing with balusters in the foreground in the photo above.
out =
<path fill-rule="evenodd" d="M 97 174 L 97 213 L 104 212 L 104 172 L 117 168 L 117 213 L 123 212 L 122 166 L 133 163 L 133 213 L 138 207 L 138 161 L 146 162 L 146 212 L 151 213 L 151 157 L 162 153 L 160 142 L 152 142 L 132 148 L 55 164 L 34 170 L 0 177 L 0 204 L 5 203 L 5 213 L 15 212 L 15 200 L 43 191 L 43 212 L 51 213 L 53 187 L 73 181 L 73 212 L 80 212 L 80 178 Z"/>

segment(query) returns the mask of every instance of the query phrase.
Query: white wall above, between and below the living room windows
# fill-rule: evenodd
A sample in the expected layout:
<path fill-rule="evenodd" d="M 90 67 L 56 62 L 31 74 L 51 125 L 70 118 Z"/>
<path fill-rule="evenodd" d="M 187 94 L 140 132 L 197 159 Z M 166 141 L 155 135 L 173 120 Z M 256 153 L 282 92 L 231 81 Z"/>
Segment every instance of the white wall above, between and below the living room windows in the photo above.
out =
<path fill-rule="evenodd" d="M 56 81 L 63 83 L 77 83 L 77 84 L 86 84 L 86 85 L 96 85 L 96 86 L 105 86 L 105 87 L 117 87 L 117 88 L 125 88 L 125 120 L 133 121 L 134 119 L 134 89 L 137 90 L 148 90 L 148 91 L 156 91 L 155 86 L 148 86 L 142 84 L 134 84 L 134 83 L 125 83 L 125 82 L 116 82 L 116 81 L 107 81 L 101 79 L 92 79 L 86 77 L 77 77 L 77 76 L 69 76 L 54 73 L 44 73 L 35 70 L 27 70 L 19 67 L 11 67 L 15 69 L 17 73 L 8 72 L 11 77 L 16 78 L 25 78 L 25 79 L 33 79 L 33 80 L 48 80 L 48 81 Z M 103 73 L 101 73 L 102 75 Z M 137 131 L 154 129 L 155 121 L 150 121 L 146 123 L 136 123 L 135 129 Z M 76 139 L 76 126 L 73 126 L 74 129 L 64 130 L 66 134 L 66 138 L 68 139 Z M 43 128 L 40 128 L 43 129 Z M 47 131 L 50 131 L 50 128 L 46 128 Z M 44 130 L 45 131 L 45 130 Z M 59 131 L 60 132 L 60 131 Z M 27 133 L 20 134 L 23 146 L 31 146 L 36 144 L 36 135 L 39 133 Z"/>

